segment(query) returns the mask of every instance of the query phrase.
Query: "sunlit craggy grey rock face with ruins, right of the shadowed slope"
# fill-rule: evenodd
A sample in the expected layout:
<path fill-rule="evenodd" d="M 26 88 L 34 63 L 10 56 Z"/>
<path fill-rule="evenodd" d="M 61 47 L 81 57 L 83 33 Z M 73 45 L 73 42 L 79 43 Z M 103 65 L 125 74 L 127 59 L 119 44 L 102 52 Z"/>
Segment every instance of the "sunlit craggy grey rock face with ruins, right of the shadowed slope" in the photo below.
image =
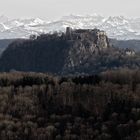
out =
<path fill-rule="evenodd" d="M 68 40 L 73 41 L 73 45 L 69 50 L 64 69 L 83 65 L 90 58 L 110 47 L 106 33 L 98 29 L 73 31 L 68 27 L 66 36 Z"/>

